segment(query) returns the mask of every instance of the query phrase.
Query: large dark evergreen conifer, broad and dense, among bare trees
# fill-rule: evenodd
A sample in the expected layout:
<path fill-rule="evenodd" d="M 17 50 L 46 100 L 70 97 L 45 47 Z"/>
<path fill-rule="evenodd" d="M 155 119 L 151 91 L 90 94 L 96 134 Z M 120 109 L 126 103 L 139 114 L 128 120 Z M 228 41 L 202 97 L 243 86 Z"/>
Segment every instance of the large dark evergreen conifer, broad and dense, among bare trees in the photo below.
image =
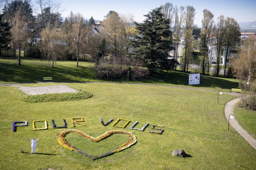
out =
<path fill-rule="evenodd" d="M 158 69 L 165 69 L 168 65 L 167 57 L 171 50 L 172 33 L 170 20 L 161 13 L 161 7 L 153 9 L 147 15 L 146 20 L 135 27 L 138 36 L 135 36 L 135 55 L 144 61 L 148 70 L 152 73 Z"/>

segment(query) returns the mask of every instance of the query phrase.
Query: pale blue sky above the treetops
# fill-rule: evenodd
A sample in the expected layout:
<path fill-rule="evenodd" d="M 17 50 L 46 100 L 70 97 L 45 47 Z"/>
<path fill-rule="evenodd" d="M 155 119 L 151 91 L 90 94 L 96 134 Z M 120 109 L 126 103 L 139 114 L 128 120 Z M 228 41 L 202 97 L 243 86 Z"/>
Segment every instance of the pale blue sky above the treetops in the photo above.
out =
<path fill-rule="evenodd" d="M 237 22 L 252 22 L 256 20 L 256 0 L 59 0 L 64 18 L 72 11 L 80 13 L 83 18 L 103 20 L 109 11 L 116 11 L 124 15 L 134 15 L 136 22 L 143 22 L 146 14 L 156 7 L 170 2 L 173 6 L 186 7 L 191 5 L 196 10 L 194 24 L 201 27 L 203 10 L 208 9 L 213 13 L 214 20 L 224 15 L 233 17 Z"/>

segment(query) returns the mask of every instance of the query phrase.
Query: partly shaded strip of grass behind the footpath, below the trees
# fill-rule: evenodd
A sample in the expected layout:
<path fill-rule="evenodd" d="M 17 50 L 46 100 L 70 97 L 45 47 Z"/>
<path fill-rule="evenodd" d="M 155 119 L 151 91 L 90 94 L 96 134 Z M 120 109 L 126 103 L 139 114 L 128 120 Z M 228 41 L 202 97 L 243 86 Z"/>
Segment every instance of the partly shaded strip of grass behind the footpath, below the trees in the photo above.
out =
<path fill-rule="evenodd" d="M 143 84 L 161 84 L 208 90 L 221 90 L 230 92 L 231 88 L 238 88 L 238 80 L 221 77 L 200 75 L 200 84 L 188 85 L 189 73 L 181 71 L 168 71 L 155 74 L 141 81 L 126 80 L 98 80 L 93 73 L 94 63 L 75 61 L 57 61 L 55 68 L 51 68 L 48 60 L 25 58 L 18 66 L 15 58 L 0 58 L 0 84 L 42 82 L 43 77 L 52 77 L 54 82 L 125 82 Z"/>

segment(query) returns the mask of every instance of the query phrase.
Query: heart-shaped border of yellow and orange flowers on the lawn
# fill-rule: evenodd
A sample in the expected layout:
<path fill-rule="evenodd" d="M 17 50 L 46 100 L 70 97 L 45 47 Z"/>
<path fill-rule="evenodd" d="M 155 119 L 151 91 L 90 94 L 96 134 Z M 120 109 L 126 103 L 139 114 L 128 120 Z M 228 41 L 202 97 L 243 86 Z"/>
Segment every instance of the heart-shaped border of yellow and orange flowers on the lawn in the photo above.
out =
<path fill-rule="evenodd" d="M 82 150 L 79 150 L 78 148 L 76 148 L 75 146 L 72 146 L 70 145 L 69 143 L 67 143 L 67 140 L 65 139 L 65 135 L 67 133 L 77 133 L 78 135 L 82 136 L 82 137 L 85 137 L 86 139 L 88 139 L 89 141 L 93 141 L 93 142 L 98 142 L 98 141 L 101 141 L 102 139 L 112 135 L 113 133 L 122 133 L 122 134 L 125 134 L 127 135 L 128 137 L 130 137 L 129 141 L 122 144 L 121 146 L 118 146 L 117 148 L 113 149 L 113 150 L 110 150 L 104 154 L 100 154 L 100 155 L 89 155 L 87 154 L 86 152 L 83 152 Z M 79 130 L 76 130 L 76 129 L 68 129 L 68 130 L 63 130 L 62 132 L 59 132 L 58 135 L 57 135 L 57 139 L 58 139 L 58 142 L 61 146 L 64 146 L 65 148 L 69 149 L 69 150 L 73 150 L 75 152 L 77 152 L 78 154 L 81 154 L 83 156 L 86 156 L 90 159 L 99 159 L 99 158 L 102 158 L 104 156 L 108 156 L 110 154 L 113 154 L 115 152 L 119 152 L 121 150 L 124 150 L 126 148 L 129 148 L 130 146 L 132 146 L 134 143 L 136 143 L 136 137 L 134 136 L 134 134 L 132 134 L 131 132 L 125 132 L 125 131 L 122 131 L 122 130 L 111 130 L 111 131 L 107 131 L 106 133 L 94 138 L 94 137 L 91 137 L 90 135 L 87 135 L 86 133 L 83 133 Z"/>

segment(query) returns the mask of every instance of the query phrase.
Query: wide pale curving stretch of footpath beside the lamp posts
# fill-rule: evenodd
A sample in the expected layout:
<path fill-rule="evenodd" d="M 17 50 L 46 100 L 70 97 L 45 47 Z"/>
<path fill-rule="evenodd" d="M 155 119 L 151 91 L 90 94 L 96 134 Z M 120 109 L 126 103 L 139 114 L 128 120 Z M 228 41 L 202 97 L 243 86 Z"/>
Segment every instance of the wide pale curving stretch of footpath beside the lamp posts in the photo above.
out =
<path fill-rule="evenodd" d="M 239 101 L 240 101 L 240 98 L 237 98 L 226 104 L 225 116 L 227 120 L 230 114 L 234 115 L 234 106 Z M 245 141 L 247 141 L 250 144 L 250 146 L 252 146 L 252 148 L 256 150 L 256 140 L 239 125 L 239 123 L 235 118 L 229 119 L 229 124 L 236 130 L 237 133 L 239 133 L 243 137 L 243 139 L 245 139 Z"/>

